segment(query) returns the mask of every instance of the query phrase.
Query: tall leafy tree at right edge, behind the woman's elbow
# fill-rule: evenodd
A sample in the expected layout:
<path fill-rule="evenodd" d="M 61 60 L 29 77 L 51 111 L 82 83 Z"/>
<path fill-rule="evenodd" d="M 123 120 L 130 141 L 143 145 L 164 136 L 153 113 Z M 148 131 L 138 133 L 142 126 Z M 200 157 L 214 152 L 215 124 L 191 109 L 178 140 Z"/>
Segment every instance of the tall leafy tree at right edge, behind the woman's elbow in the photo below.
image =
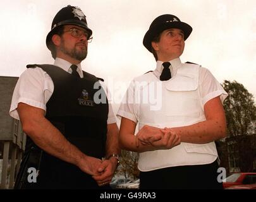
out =
<path fill-rule="evenodd" d="M 236 81 L 225 80 L 222 86 L 229 95 L 224 101 L 229 160 L 237 159 L 235 163 L 240 171 L 249 172 L 253 169 L 255 159 L 255 148 L 252 143 L 255 140 L 256 107 L 253 95 Z"/>

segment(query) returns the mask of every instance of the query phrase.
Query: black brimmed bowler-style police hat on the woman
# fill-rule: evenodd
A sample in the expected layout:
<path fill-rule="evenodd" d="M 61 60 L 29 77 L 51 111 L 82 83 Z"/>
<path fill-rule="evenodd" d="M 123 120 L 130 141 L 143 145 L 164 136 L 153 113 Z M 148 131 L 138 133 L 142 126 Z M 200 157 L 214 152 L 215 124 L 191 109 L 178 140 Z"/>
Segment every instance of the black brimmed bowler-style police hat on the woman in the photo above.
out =
<path fill-rule="evenodd" d="M 178 28 L 184 32 L 184 40 L 188 39 L 190 33 L 192 32 L 192 27 L 174 15 L 161 15 L 155 18 L 152 21 L 149 30 L 144 36 L 143 45 L 148 49 L 150 52 L 151 50 L 151 42 L 154 37 L 161 33 L 164 30 L 168 30 L 169 28 Z"/>

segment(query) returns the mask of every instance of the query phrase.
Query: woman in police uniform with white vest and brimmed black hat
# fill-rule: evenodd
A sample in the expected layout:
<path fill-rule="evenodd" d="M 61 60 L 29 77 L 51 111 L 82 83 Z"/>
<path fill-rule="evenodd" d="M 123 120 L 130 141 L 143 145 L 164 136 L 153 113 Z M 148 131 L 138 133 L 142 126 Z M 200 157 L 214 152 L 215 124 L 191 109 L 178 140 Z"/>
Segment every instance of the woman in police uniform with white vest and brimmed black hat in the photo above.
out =
<path fill-rule="evenodd" d="M 156 67 L 131 81 L 118 110 L 119 144 L 139 153 L 141 189 L 222 189 L 214 141 L 226 136 L 228 94 L 208 69 L 181 62 L 191 32 L 174 15 L 155 18 L 143 45 Z"/>

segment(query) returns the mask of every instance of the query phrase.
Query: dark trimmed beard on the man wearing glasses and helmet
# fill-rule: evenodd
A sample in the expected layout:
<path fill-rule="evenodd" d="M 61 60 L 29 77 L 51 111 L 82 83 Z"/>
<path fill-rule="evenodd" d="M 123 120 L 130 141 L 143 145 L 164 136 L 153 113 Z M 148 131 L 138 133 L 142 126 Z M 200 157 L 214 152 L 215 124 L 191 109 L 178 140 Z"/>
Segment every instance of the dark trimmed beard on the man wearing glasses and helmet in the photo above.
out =
<path fill-rule="evenodd" d="M 83 42 L 81 42 L 81 43 L 83 43 Z M 82 49 L 82 50 L 78 50 L 78 49 L 76 49 L 76 47 L 74 47 L 71 50 L 68 50 L 68 49 L 66 49 L 66 47 L 64 45 L 64 41 L 61 40 L 61 45 L 60 45 L 59 49 L 64 54 L 66 54 L 78 61 L 83 61 L 87 57 L 87 46 L 85 46 L 85 49 Z"/>

